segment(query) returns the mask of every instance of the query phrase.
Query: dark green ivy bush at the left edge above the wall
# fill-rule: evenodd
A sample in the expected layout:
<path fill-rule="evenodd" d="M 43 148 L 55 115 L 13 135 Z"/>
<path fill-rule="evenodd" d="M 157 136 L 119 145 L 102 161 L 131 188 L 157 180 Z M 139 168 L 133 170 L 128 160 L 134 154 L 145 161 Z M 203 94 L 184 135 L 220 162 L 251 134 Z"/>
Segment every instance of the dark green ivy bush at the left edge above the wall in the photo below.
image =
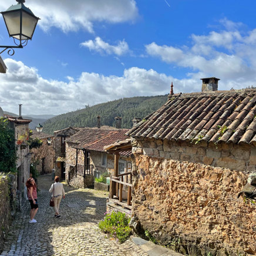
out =
<path fill-rule="evenodd" d="M 0 117 L 0 172 L 16 172 L 16 146 L 14 131 L 8 126 L 8 119 Z"/>

